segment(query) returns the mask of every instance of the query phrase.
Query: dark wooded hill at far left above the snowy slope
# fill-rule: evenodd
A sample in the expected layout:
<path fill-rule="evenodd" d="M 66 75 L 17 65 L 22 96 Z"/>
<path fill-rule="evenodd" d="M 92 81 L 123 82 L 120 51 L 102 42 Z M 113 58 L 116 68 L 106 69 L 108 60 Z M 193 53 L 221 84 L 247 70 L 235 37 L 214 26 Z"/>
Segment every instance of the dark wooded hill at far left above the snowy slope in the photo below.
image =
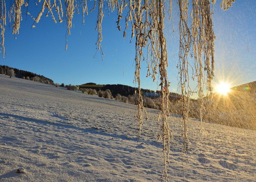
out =
<path fill-rule="evenodd" d="M 52 79 L 49 79 L 43 75 L 38 75 L 29 71 L 24 71 L 24 70 L 19 70 L 17 68 L 12 68 L 9 66 L 5 66 L 5 65 L 0 65 L 0 74 L 5 75 L 5 73 L 7 72 L 7 70 L 13 69 L 15 72 L 15 77 L 17 78 L 22 78 L 23 76 L 26 78 L 27 76 L 29 76 L 29 78 L 33 78 L 33 77 L 38 77 L 39 78 L 39 82 L 42 83 L 49 83 L 49 84 L 54 84 Z"/>

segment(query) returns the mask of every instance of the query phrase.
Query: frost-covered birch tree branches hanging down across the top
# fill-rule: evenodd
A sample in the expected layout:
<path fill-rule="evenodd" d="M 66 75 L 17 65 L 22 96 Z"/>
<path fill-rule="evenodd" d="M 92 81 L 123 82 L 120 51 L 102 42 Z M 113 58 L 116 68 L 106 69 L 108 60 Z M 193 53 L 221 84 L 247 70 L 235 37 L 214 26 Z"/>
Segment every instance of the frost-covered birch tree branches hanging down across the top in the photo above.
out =
<path fill-rule="evenodd" d="M 220 0 L 221 8 L 229 9 L 234 0 Z M 180 21 L 180 50 L 178 70 L 180 75 L 181 102 L 182 102 L 182 151 L 189 147 L 188 132 L 188 111 L 189 98 L 192 90 L 189 87 L 189 80 L 197 79 L 197 93 L 201 105 L 201 123 L 203 113 L 204 87 L 212 94 L 211 80 L 214 76 L 214 30 L 212 25 L 213 7 L 216 0 L 178 0 Z M 20 22 L 22 20 L 22 7 L 34 5 L 29 0 L 13 0 L 8 11 L 8 19 L 12 25 L 12 33 L 19 33 Z M 67 24 L 67 35 L 71 34 L 72 19 L 74 12 L 82 13 L 83 23 L 84 15 L 88 14 L 87 0 L 38 0 L 36 5 L 41 7 L 38 15 L 29 15 L 34 23 L 32 28 L 36 27 L 42 15 L 52 16 L 54 23 Z M 212 6 L 211 6 L 212 5 Z M 191 8 L 189 8 L 191 6 Z M 161 130 L 158 138 L 163 143 L 164 169 L 162 178 L 168 181 L 167 166 L 169 164 L 170 149 L 170 127 L 169 118 L 169 78 L 167 76 L 168 56 L 167 42 L 164 34 L 164 18 L 167 12 L 172 13 L 172 0 L 94 0 L 94 5 L 90 11 L 98 10 L 97 16 L 97 48 L 101 51 L 102 21 L 105 7 L 112 12 L 117 10 L 117 29 L 123 31 L 123 36 L 127 36 L 128 27 L 131 26 L 131 38 L 135 39 L 135 81 L 138 83 L 138 93 L 136 94 L 138 105 L 137 114 L 139 135 L 143 120 L 147 120 L 147 112 L 143 106 L 143 98 L 140 92 L 140 68 L 141 62 L 146 61 L 148 65 L 147 76 L 151 76 L 153 81 L 159 74 L 161 87 L 161 107 L 159 110 L 158 122 L 161 123 Z M 192 9 L 191 12 L 188 12 Z M 1 49 L 3 56 L 4 49 L 4 31 L 7 19 L 7 10 L 5 0 L 0 0 L 0 31 L 1 31 Z M 189 16 L 190 15 L 190 16 Z M 56 20 L 57 19 L 57 20 Z M 125 27 L 121 27 L 123 20 Z M 67 40 L 67 39 L 66 39 Z M 67 44 L 66 44 L 67 49 Z M 103 53 L 102 53 L 103 54 Z M 191 57 L 191 58 L 190 58 Z M 192 60 L 192 63 L 190 62 Z M 195 70 L 195 75 L 189 75 L 189 68 Z M 206 76 L 204 76 L 206 75 Z M 206 83 L 206 84 L 205 84 Z"/>

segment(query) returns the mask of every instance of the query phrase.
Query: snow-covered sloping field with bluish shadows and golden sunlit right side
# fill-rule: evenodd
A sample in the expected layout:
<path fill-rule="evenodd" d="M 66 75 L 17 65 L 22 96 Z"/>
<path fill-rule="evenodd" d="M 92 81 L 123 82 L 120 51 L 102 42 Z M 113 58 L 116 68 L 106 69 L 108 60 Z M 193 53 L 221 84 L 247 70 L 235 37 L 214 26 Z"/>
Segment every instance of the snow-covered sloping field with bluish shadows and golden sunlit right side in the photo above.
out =
<path fill-rule="evenodd" d="M 0 181 L 160 181 L 157 111 L 0 75 Z M 169 179 L 183 181 L 179 118 Z M 190 120 L 185 181 L 256 181 L 256 131 Z M 23 167 L 26 173 L 16 173 Z"/>

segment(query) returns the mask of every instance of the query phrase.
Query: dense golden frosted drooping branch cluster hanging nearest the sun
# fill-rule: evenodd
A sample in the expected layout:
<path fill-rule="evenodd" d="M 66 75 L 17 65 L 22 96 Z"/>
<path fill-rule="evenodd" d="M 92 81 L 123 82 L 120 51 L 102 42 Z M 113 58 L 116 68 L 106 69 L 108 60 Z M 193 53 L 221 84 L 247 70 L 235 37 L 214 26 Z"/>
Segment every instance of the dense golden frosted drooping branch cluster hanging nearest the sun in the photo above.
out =
<path fill-rule="evenodd" d="M 195 72 L 197 77 L 197 92 L 200 104 L 200 130 L 203 120 L 203 98 L 204 98 L 204 71 L 207 76 L 207 90 L 212 96 L 211 80 L 214 77 L 214 40 L 212 29 L 212 11 L 208 0 L 193 0 L 192 18 L 192 54 L 194 56 Z"/>

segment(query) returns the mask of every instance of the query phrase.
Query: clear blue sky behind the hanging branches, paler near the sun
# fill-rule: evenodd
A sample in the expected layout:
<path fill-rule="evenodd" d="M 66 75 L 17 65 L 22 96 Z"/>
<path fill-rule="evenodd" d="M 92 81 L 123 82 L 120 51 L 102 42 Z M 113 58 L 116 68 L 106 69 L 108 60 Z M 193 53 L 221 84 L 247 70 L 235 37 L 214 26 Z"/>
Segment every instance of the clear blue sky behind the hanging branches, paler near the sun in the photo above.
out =
<path fill-rule="evenodd" d="M 220 1 L 220 0 L 219 0 Z M 213 22 L 217 37 L 215 41 L 215 79 L 228 80 L 232 86 L 256 80 L 256 1 L 236 1 L 228 11 L 214 8 Z M 93 2 L 88 1 L 89 10 Z M 31 1 L 30 4 L 33 4 Z M 40 3 L 40 5 L 42 2 Z M 8 5 L 7 5 L 8 7 Z M 29 12 L 36 17 L 40 6 L 31 5 Z M 170 91 L 177 91 L 176 65 L 178 62 L 178 5 L 173 3 L 174 33 L 170 20 L 165 20 L 165 35 L 168 44 Z M 20 34 L 12 35 L 12 29 L 5 30 L 5 58 L 0 64 L 31 71 L 53 79 L 57 83 L 83 84 L 125 84 L 133 83 L 135 63 L 134 40 L 130 34 L 123 38 L 123 31 L 116 28 L 117 12 L 108 15 L 105 11 L 102 31 L 103 61 L 96 53 L 97 9 L 89 12 L 82 24 L 82 15 L 74 15 L 71 35 L 68 35 L 68 50 L 65 51 L 66 23 L 55 24 L 49 15 L 41 17 L 35 28 L 33 20 L 23 15 Z M 130 26 L 131 27 L 131 26 Z M 131 30 L 131 29 L 129 29 Z M 94 58 L 95 55 L 95 58 Z M 157 89 L 158 83 L 146 78 L 147 65 L 142 63 L 142 88 Z"/>

